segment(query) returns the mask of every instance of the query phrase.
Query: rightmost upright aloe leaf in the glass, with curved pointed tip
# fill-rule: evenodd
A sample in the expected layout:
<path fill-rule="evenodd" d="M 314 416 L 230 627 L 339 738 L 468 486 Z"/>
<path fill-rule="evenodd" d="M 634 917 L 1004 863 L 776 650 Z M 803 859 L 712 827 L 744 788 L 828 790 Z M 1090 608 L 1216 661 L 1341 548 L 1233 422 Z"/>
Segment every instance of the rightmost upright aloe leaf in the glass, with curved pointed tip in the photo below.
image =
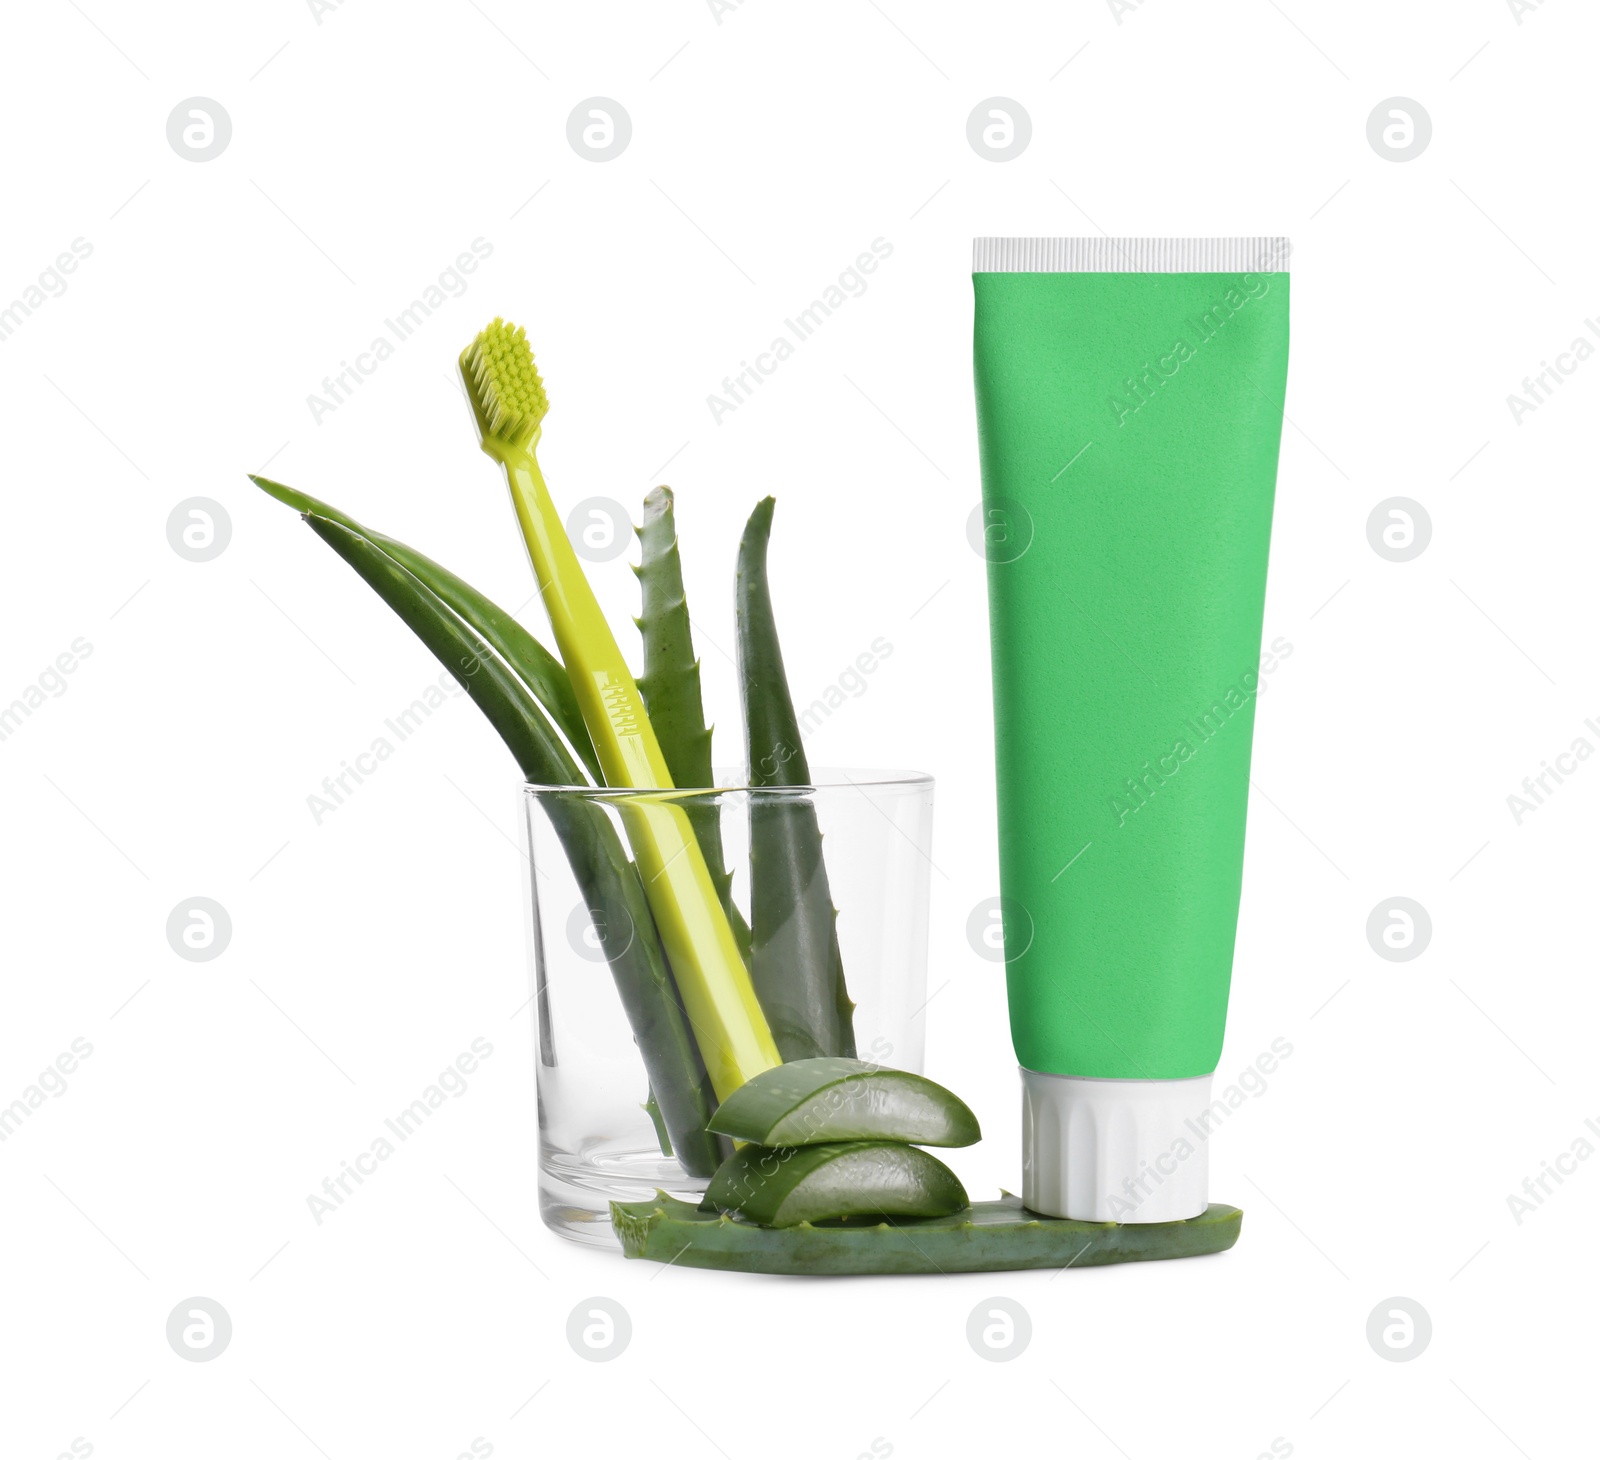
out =
<path fill-rule="evenodd" d="M 757 503 L 739 539 L 734 588 L 750 784 L 806 786 L 811 768 L 766 584 L 771 530 L 768 496 Z M 786 1061 L 856 1053 L 837 919 L 816 807 L 800 792 L 781 800 L 752 796 L 750 980 Z"/>

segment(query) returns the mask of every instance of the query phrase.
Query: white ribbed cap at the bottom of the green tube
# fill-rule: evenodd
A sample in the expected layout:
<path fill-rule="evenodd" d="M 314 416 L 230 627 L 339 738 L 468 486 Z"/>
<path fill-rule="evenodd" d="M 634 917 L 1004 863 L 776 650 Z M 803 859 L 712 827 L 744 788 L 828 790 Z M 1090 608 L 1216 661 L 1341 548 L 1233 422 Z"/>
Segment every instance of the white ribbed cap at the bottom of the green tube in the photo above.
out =
<path fill-rule="evenodd" d="M 1022 1205 L 1075 1221 L 1184 1221 L 1206 1209 L 1211 1076 L 1022 1071 Z"/>

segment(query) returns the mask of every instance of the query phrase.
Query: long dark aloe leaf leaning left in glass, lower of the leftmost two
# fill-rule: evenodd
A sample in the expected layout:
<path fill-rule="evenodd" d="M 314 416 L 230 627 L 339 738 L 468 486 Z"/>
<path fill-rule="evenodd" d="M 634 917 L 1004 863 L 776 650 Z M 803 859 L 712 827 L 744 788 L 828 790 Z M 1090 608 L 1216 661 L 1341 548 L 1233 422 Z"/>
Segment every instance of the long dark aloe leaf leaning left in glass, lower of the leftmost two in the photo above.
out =
<path fill-rule="evenodd" d="M 306 514 L 306 520 L 456 677 L 528 780 L 549 786 L 579 781 L 581 773 L 544 711 L 470 626 L 414 573 L 360 533 L 314 512 Z M 630 938 L 605 941 L 611 977 L 678 1161 L 691 1175 L 710 1175 L 726 1154 L 726 1143 L 707 1130 L 715 1098 L 661 953 L 638 872 L 600 807 L 565 799 L 547 800 L 546 810 L 590 916 L 606 929 L 632 929 Z"/>

